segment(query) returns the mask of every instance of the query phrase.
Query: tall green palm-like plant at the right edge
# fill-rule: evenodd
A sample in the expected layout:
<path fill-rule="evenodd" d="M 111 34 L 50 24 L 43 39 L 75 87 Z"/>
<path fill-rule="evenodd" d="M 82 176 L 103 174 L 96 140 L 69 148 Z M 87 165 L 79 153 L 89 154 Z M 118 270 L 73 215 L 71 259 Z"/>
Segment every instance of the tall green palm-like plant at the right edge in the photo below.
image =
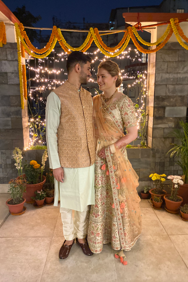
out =
<path fill-rule="evenodd" d="M 174 147 L 168 151 L 171 152 L 170 157 L 174 155 L 179 157 L 177 164 L 182 168 L 183 175 L 185 175 L 184 183 L 188 184 L 188 123 L 181 120 L 180 125 L 183 129 L 174 129 L 173 135 L 178 139 L 179 144 L 172 144 Z M 167 154 L 168 154 L 167 153 Z"/>

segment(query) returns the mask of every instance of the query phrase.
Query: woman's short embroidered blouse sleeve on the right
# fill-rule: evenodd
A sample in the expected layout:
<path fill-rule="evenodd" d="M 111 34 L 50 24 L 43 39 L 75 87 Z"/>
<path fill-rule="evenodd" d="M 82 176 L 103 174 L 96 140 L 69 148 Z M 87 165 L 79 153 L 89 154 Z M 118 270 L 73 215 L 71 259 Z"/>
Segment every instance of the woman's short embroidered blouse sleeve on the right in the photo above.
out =
<path fill-rule="evenodd" d="M 123 100 L 120 111 L 126 129 L 137 125 L 136 111 L 131 98 L 126 97 Z"/>

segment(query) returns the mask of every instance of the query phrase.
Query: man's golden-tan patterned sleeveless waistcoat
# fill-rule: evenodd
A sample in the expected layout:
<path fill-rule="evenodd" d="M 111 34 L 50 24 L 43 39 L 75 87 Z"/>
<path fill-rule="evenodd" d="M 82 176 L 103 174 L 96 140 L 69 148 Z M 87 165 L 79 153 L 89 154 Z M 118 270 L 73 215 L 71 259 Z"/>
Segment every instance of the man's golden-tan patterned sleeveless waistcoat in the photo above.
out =
<path fill-rule="evenodd" d="M 92 127 L 92 97 L 65 84 L 53 90 L 61 101 L 60 123 L 57 129 L 57 147 L 61 167 L 84 168 L 95 162 L 95 145 Z"/>

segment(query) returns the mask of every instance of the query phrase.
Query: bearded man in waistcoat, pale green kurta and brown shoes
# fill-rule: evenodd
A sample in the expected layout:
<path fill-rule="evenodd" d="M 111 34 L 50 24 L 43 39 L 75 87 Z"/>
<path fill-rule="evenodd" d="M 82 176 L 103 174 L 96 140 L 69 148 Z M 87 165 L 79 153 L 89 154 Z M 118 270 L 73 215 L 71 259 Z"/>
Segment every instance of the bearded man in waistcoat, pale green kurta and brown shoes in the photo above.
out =
<path fill-rule="evenodd" d="M 54 206 L 59 189 L 65 237 L 60 259 L 68 257 L 75 237 L 83 253 L 93 255 L 85 239 L 89 205 L 95 201 L 92 97 L 81 87 L 91 76 L 90 63 L 88 55 L 72 52 L 67 58 L 68 80 L 49 94 L 46 104 L 48 156 L 55 177 Z"/>

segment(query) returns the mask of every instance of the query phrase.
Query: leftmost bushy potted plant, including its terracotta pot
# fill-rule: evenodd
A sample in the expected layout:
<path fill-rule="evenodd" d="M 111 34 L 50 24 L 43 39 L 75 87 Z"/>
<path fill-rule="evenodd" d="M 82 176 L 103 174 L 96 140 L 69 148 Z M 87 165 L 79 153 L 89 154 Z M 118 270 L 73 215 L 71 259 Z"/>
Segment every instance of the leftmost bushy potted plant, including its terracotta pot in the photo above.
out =
<path fill-rule="evenodd" d="M 23 211 L 23 205 L 25 198 L 23 193 L 26 190 L 26 180 L 11 179 L 9 182 L 10 199 L 6 201 L 6 205 L 9 208 L 10 213 L 19 214 Z"/>

